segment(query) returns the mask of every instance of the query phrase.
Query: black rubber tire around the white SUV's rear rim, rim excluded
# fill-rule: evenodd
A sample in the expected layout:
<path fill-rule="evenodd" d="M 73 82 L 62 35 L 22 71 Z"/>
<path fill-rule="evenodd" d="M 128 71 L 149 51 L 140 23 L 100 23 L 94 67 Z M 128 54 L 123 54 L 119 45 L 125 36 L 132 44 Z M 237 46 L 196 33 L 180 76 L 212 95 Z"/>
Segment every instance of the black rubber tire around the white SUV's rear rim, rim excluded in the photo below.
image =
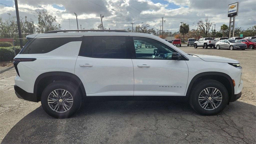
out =
<path fill-rule="evenodd" d="M 66 112 L 56 112 L 50 108 L 48 105 L 48 96 L 52 91 L 56 89 L 64 89 L 67 90 L 73 97 L 73 104 L 71 108 Z M 56 81 L 54 83 L 49 84 L 41 95 L 41 105 L 45 112 L 55 118 L 67 118 L 75 114 L 82 105 L 82 94 L 78 87 L 69 81 Z"/>

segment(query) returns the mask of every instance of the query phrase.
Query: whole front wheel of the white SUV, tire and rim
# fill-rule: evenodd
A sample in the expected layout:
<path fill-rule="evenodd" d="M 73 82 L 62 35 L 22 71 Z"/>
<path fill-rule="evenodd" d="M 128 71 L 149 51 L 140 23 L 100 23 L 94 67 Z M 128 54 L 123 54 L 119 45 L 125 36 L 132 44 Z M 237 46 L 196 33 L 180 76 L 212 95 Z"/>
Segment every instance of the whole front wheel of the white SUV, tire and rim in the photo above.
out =
<path fill-rule="evenodd" d="M 190 93 L 189 104 L 201 115 L 216 115 L 227 106 L 227 103 L 228 91 L 217 80 L 202 80 Z"/>

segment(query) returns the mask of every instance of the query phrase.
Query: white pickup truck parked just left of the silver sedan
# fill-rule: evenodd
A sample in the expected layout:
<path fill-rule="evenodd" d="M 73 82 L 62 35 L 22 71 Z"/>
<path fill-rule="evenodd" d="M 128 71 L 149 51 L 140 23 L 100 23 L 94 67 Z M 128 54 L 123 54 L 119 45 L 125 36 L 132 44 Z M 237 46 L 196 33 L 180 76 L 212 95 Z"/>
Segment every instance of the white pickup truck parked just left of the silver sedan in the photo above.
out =
<path fill-rule="evenodd" d="M 206 38 L 200 38 L 198 41 L 195 41 L 194 43 L 194 48 L 197 48 L 198 46 L 202 46 L 203 48 L 216 48 L 215 43 L 217 43 L 219 40 L 213 40 L 211 37 L 206 37 Z"/>

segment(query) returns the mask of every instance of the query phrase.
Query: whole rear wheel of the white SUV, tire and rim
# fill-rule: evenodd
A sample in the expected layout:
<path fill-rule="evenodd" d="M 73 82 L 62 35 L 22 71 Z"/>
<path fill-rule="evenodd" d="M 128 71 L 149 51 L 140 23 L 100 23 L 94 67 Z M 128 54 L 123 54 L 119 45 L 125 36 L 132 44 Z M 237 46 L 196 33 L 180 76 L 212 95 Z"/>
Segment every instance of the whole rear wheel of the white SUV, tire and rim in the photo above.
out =
<path fill-rule="evenodd" d="M 49 84 L 41 95 L 45 112 L 55 118 L 67 118 L 78 111 L 82 95 L 76 85 L 69 81 L 56 81 Z"/>

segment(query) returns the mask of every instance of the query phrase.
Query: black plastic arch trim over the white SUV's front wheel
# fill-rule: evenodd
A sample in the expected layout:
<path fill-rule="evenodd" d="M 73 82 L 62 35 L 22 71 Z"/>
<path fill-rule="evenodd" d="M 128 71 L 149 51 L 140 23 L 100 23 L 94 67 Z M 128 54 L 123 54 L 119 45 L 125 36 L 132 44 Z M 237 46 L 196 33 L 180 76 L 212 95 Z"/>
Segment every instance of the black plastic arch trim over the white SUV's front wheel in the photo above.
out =
<path fill-rule="evenodd" d="M 209 71 L 209 72 L 204 72 L 204 73 L 199 73 L 197 75 L 195 75 L 192 80 L 189 83 L 188 89 L 187 89 L 187 93 L 186 93 L 186 97 L 189 97 L 190 91 L 192 89 L 193 84 L 195 83 L 195 81 L 201 77 L 201 76 L 207 76 L 207 75 L 217 75 L 217 76 L 223 76 L 225 78 L 228 79 L 230 87 L 231 87 L 231 95 L 229 96 L 229 100 L 230 98 L 234 95 L 234 86 L 233 86 L 233 81 L 231 79 L 231 77 L 225 73 L 221 73 L 221 72 L 215 72 L 215 71 Z"/>

